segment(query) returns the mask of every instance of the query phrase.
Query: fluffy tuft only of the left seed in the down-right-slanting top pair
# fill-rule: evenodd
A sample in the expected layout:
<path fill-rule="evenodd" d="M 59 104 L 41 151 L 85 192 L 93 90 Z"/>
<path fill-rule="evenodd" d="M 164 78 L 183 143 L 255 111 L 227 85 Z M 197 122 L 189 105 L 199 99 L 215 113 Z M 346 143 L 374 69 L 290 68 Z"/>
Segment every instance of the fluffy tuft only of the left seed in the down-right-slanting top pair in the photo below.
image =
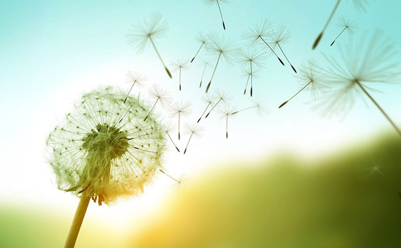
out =
<path fill-rule="evenodd" d="M 241 33 L 242 39 L 245 40 L 246 46 L 256 46 L 263 43 L 262 39 L 268 38 L 272 32 L 272 23 L 265 19 L 258 21 L 247 30 Z M 269 53 L 270 54 L 270 53 Z"/>

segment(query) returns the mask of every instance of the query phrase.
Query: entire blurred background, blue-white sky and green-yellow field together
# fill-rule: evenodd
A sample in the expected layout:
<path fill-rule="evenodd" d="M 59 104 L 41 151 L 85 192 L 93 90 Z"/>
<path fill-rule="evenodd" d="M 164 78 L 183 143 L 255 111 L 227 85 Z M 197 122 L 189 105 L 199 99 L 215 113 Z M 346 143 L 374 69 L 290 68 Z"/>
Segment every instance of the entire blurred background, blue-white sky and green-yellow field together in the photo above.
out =
<path fill-rule="evenodd" d="M 340 15 L 359 24 L 355 41 L 378 27 L 400 50 L 400 1 L 367 1 L 361 11 L 343 0 L 312 51 L 335 2 L 233 0 L 221 6 L 224 31 L 217 7 L 200 0 L 1 0 L 0 247 L 62 247 L 78 198 L 54 186 L 45 138 L 82 92 L 100 84 L 128 90 L 124 75 L 134 70 L 149 85 L 157 82 L 175 99 L 192 102 L 184 122 L 202 113 L 203 68 L 195 60 L 179 92 L 177 74 L 167 77 L 151 47 L 138 54 L 127 45 L 131 24 L 163 14 L 169 32 L 156 44 L 168 65 L 192 58 L 198 31 L 216 31 L 240 47 L 241 32 L 265 18 L 291 31 L 285 51 L 296 68 L 310 58 L 327 65 L 322 53 L 336 55 L 336 46 L 347 42 L 344 33 L 329 47 L 341 31 Z M 76 247 L 400 247 L 400 137 L 368 99 L 357 99 L 344 121 L 321 119 L 307 104 L 308 92 L 278 110 L 301 82 L 273 57 L 265 66 L 253 98 L 268 114 L 231 119 L 229 139 L 224 121 L 211 114 L 185 155 L 166 154 L 169 173 L 189 177 L 183 191 L 175 193 L 160 175 L 139 197 L 110 207 L 90 204 Z M 242 95 L 244 83 L 238 66 L 222 62 L 212 86 L 229 91 L 241 109 L 252 105 Z M 401 86 L 376 88 L 383 93 L 372 95 L 400 124 Z M 140 93 L 147 96 L 146 87 Z"/>

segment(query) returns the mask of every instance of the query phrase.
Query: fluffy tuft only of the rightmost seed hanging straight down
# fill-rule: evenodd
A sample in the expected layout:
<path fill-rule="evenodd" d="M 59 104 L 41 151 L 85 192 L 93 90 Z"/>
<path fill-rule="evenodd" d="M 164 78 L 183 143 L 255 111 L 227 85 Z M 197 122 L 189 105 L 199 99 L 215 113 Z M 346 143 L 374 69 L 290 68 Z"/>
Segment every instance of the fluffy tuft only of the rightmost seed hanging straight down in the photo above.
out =
<path fill-rule="evenodd" d="M 236 62 L 240 66 L 250 67 L 250 63 L 252 63 L 252 66 L 264 68 L 263 62 L 266 59 L 267 56 L 258 47 L 238 48 L 236 50 Z"/>

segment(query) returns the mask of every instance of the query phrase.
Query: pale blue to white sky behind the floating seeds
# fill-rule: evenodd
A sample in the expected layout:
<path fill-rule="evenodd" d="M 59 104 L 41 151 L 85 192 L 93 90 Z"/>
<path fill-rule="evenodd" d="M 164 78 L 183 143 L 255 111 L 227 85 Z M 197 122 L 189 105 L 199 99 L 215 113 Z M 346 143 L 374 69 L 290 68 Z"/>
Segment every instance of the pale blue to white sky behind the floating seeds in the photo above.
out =
<path fill-rule="evenodd" d="M 400 50 L 400 1 L 369 1 L 366 11 L 361 11 L 355 8 L 353 1 L 343 0 L 320 45 L 312 51 L 313 41 L 334 5 L 334 0 L 233 0 L 221 6 L 226 24 L 224 31 L 217 7 L 207 7 L 200 0 L 0 0 L 0 150 L 3 155 L 0 203 L 29 202 L 39 207 L 57 208 L 72 216 L 77 199 L 57 190 L 52 183 L 53 175 L 44 157 L 46 136 L 83 92 L 98 85 L 115 85 L 128 90 L 129 85 L 124 82 L 127 70 L 147 75 L 149 85 L 158 83 L 174 99 L 190 100 L 193 113 L 184 122 L 199 118 L 205 107 L 200 100 L 205 88 L 198 87 L 203 68 L 195 60 L 188 71 L 183 71 L 182 91 L 179 92 L 178 74 L 170 79 L 150 46 L 137 53 L 127 44 L 125 35 L 131 24 L 141 22 L 155 11 L 163 15 L 169 31 L 155 43 L 169 67 L 174 59 L 193 57 L 198 49 L 194 41 L 198 31 L 217 32 L 230 39 L 234 47 L 241 47 L 244 41 L 240 34 L 265 18 L 274 26 L 284 24 L 290 30 L 291 40 L 284 49 L 296 68 L 310 58 L 326 66 L 322 53 L 336 56 L 336 46 L 346 44 L 349 36 L 344 33 L 329 47 L 341 31 L 336 26 L 341 15 L 350 17 L 360 26 L 353 37 L 355 41 L 365 32 L 369 37 L 375 28 L 380 28 L 396 41 L 396 50 Z M 204 51 L 200 56 L 205 56 Z M 394 55 L 396 61 L 400 61 L 399 58 L 399 54 Z M 211 69 L 206 71 L 205 81 L 210 78 Z M 232 104 L 242 109 L 252 106 L 249 95 L 242 94 L 244 83 L 240 67 L 222 61 L 212 90 L 213 87 L 227 90 L 234 99 Z M 229 139 L 226 139 L 224 121 L 218 119 L 217 112 L 212 113 L 210 118 L 201 121 L 206 129 L 203 137 L 191 141 L 185 155 L 171 149 L 166 154 L 165 167 L 174 176 L 184 173 L 196 178 L 214 173 L 219 165 L 232 161 L 243 161 L 246 167 L 250 161 L 275 156 L 283 150 L 318 157 L 382 131 L 392 131 L 390 124 L 366 98 L 356 101 L 344 121 L 320 118 L 310 104 L 305 104 L 312 100 L 309 92 L 300 93 L 278 110 L 301 83 L 287 64 L 282 66 L 275 58 L 268 58 L 254 81 L 252 97 L 261 100 L 267 114 L 258 116 L 247 111 L 229 120 Z M 400 85 L 382 84 L 377 89 L 383 93 L 373 92 L 373 97 L 395 123 L 400 124 Z M 146 87 L 140 92 L 147 97 Z M 157 111 L 165 112 L 161 108 Z M 184 146 L 185 141 L 181 139 L 179 146 Z M 161 212 L 160 202 L 172 193 L 171 184 L 161 175 L 140 197 L 110 208 L 90 206 L 92 212 L 88 218 L 96 219 L 97 215 L 105 214 L 110 223 L 118 226 L 126 221 L 127 214 L 141 219 L 144 211 L 148 214 Z"/>

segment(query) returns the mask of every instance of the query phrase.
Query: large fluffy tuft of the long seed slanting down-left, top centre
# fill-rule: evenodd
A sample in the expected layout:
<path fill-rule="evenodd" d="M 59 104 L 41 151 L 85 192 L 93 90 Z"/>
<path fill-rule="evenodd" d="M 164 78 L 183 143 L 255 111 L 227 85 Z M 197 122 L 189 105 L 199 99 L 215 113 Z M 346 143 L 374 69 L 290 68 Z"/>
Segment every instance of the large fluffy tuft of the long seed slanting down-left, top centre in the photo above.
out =
<path fill-rule="evenodd" d="M 233 43 L 216 32 L 210 33 L 209 37 L 209 51 L 216 56 L 221 55 L 228 64 L 231 64 L 235 51 Z"/>

